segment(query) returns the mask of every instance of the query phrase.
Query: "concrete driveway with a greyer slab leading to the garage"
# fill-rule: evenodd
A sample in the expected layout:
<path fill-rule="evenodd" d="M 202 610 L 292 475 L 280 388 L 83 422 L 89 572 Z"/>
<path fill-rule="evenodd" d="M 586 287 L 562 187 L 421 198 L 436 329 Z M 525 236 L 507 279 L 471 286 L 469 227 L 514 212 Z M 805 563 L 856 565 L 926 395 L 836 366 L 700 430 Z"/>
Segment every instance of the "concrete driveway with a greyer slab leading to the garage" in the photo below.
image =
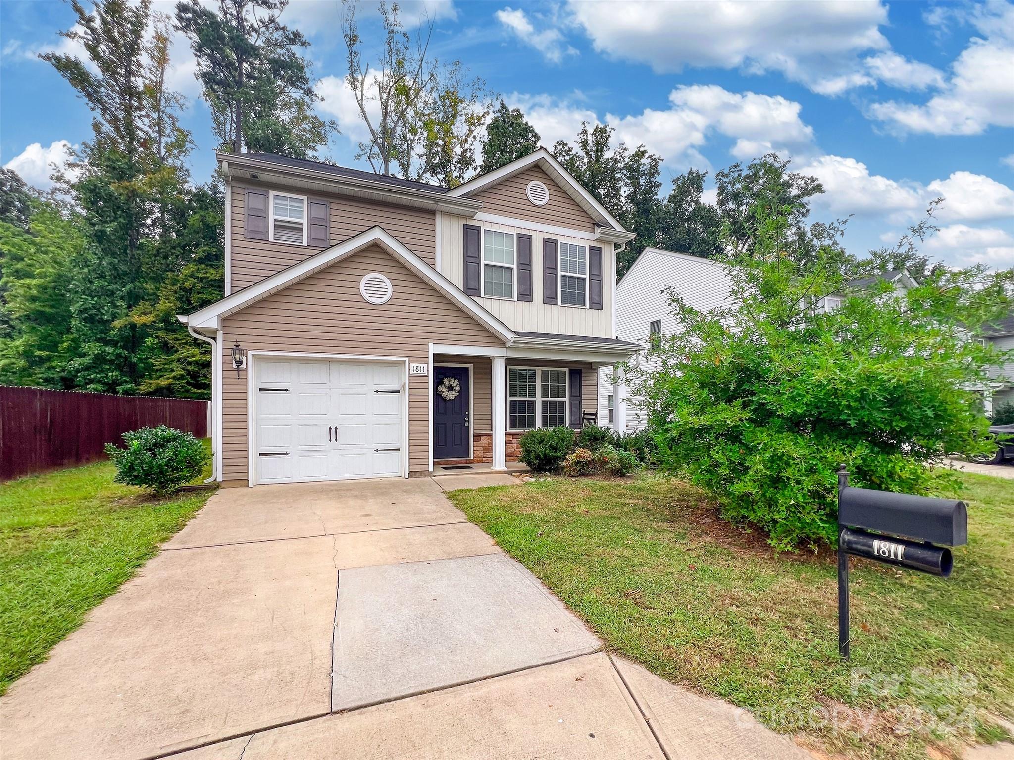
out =
<path fill-rule="evenodd" d="M 8 760 L 808 757 L 603 653 L 430 479 L 219 491 L 0 712 Z"/>

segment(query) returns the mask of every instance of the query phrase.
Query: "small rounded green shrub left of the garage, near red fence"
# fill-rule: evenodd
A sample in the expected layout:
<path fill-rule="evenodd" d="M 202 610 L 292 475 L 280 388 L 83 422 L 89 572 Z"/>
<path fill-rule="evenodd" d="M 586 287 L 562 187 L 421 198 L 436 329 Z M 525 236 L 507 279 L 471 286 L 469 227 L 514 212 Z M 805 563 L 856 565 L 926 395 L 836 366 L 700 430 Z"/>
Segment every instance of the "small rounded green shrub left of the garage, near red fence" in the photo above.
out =
<path fill-rule="evenodd" d="M 137 485 L 158 496 L 172 493 L 201 474 L 211 455 L 190 433 L 160 425 L 124 433 L 126 448 L 105 445 L 117 466 L 118 483 Z"/>

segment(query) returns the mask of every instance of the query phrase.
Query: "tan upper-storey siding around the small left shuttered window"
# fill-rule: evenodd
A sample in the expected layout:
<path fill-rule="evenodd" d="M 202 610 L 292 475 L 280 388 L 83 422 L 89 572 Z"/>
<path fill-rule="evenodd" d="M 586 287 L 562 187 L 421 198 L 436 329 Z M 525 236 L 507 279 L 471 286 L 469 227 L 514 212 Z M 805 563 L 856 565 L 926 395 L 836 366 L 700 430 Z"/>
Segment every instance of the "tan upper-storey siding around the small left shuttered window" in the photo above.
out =
<path fill-rule="evenodd" d="M 268 191 L 275 189 L 252 182 L 232 183 L 232 238 L 230 241 L 229 272 L 233 293 L 287 267 L 299 263 L 304 258 L 321 250 L 321 248 L 311 245 L 247 240 L 243 237 L 246 221 L 247 186 Z M 305 191 L 284 187 L 277 188 L 276 192 L 307 195 Z M 361 201 L 348 196 L 311 193 L 309 198 L 328 201 L 331 205 L 331 245 L 347 240 L 353 235 L 377 225 L 428 264 L 436 265 L 436 217 L 434 212 Z"/>

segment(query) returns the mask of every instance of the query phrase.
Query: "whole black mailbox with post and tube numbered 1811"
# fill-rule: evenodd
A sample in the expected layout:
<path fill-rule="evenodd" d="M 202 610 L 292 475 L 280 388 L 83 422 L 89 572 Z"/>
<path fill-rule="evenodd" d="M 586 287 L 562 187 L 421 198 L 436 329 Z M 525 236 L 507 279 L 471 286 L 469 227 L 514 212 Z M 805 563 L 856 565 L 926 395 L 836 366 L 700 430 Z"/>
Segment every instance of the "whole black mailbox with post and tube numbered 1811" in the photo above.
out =
<path fill-rule="evenodd" d="M 842 465 L 838 529 L 838 653 L 848 660 L 849 554 L 950 578 L 954 561 L 946 547 L 968 542 L 968 510 L 953 499 L 853 488 Z"/>

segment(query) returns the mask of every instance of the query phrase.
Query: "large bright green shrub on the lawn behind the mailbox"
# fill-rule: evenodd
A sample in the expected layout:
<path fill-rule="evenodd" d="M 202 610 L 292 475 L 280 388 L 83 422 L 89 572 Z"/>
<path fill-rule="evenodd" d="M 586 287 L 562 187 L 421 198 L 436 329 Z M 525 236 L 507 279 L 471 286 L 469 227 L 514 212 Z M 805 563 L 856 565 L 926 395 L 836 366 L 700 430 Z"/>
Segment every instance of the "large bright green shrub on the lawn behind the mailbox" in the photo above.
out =
<path fill-rule="evenodd" d="M 834 544 L 840 463 L 854 485 L 927 495 L 954 482 L 927 465 L 989 446 L 972 389 L 1004 357 L 968 332 L 1010 308 L 1014 272 L 939 267 L 908 292 L 852 288 L 834 236 L 807 238 L 793 260 L 786 219 L 756 216 L 725 261 L 730 303 L 701 312 L 670 293 L 678 326 L 628 382 L 663 469 L 776 547 Z M 846 298 L 823 313 L 827 293 Z"/>

